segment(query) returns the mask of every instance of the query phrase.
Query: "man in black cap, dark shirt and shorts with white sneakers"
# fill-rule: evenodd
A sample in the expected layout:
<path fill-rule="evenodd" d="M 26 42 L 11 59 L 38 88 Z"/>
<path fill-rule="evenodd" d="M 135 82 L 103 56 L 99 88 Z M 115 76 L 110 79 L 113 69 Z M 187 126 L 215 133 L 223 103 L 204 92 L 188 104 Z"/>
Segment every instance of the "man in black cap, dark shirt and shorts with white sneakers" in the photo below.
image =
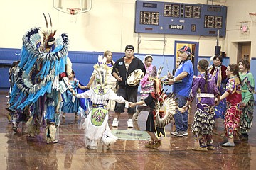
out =
<path fill-rule="evenodd" d="M 112 75 L 117 79 L 117 84 L 119 88 L 117 89 L 117 95 L 124 97 L 127 101 L 137 102 L 137 91 L 139 84 L 135 86 L 129 86 L 127 84 L 127 77 L 135 69 L 141 69 L 144 74 L 146 73 L 145 66 L 139 58 L 134 56 L 134 47 L 132 45 L 127 45 L 125 47 L 125 56 L 120 58 L 114 63 L 112 69 Z M 113 120 L 113 127 L 118 126 L 119 115 L 124 112 L 124 104 L 116 103 L 114 108 L 115 115 Z M 128 128 L 133 127 L 132 115 L 136 112 L 136 108 L 128 108 Z"/>

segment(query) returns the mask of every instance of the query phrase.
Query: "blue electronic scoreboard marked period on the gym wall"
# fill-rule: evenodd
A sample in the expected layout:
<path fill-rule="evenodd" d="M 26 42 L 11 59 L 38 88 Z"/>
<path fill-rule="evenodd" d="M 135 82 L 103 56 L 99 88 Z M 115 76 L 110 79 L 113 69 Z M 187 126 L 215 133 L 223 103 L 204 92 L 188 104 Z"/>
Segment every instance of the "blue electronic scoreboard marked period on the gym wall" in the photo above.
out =
<path fill-rule="evenodd" d="M 227 6 L 136 1 L 135 33 L 225 37 Z"/>

